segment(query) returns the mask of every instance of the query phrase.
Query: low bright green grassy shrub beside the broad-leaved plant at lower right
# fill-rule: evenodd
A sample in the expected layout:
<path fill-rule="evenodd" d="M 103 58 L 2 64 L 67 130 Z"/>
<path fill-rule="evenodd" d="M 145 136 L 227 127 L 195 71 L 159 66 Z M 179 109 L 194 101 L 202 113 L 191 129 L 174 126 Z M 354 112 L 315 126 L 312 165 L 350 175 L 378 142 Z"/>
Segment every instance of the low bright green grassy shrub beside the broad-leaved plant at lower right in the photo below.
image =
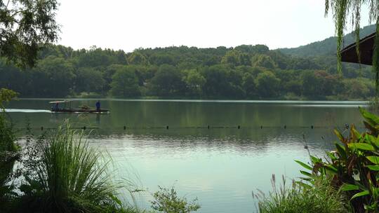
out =
<path fill-rule="evenodd" d="M 293 182 L 287 187 L 283 179 L 283 184 L 277 188 L 273 176 L 272 187 L 273 191 L 267 197 L 262 192 L 254 195 L 261 213 L 348 212 L 343 195 L 325 184 L 309 187 Z"/>

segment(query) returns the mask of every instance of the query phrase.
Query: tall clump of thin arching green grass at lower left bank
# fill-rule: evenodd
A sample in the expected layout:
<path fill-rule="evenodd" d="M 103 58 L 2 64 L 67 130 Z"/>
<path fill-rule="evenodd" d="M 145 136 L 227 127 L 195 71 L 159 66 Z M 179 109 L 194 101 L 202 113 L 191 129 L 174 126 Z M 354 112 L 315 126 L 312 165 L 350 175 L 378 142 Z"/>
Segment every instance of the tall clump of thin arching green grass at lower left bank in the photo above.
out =
<path fill-rule="evenodd" d="M 88 146 L 83 132 L 58 128 L 42 147 L 34 177 L 21 187 L 27 212 L 117 212 L 117 184 L 112 183 L 105 160 Z M 124 212 L 124 211 L 122 211 Z"/>

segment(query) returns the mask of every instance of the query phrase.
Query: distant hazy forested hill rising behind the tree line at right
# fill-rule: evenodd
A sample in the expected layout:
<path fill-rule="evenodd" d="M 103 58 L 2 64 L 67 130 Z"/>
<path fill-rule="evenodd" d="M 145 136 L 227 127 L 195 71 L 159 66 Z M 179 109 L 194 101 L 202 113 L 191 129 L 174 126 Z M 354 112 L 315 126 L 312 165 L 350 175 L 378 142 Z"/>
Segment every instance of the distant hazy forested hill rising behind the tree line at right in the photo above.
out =
<path fill-rule="evenodd" d="M 368 36 L 375 32 L 375 25 L 369 25 L 360 30 L 360 37 Z M 344 46 L 354 43 L 354 32 L 347 34 L 344 37 Z M 335 55 L 337 49 L 337 38 L 335 36 L 329 37 L 323 41 L 316 41 L 305 46 L 298 48 L 281 48 L 278 49 L 281 53 L 286 55 L 293 55 L 295 57 L 314 57 L 317 55 Z"/>

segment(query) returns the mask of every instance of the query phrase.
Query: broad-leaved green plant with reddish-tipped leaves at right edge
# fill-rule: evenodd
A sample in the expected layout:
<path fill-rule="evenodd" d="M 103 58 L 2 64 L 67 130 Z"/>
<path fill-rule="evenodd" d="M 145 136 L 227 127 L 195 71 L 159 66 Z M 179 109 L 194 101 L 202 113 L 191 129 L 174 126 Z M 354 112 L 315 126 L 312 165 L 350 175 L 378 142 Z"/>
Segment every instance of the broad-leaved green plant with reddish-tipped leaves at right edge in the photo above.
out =
<path fill-rule="evenodd" d="M 360 133 L 354 125 L 344 137 L 335 130 L 340 142 L 322 160 L 311 156 L 311 163 L 298 162 L 308 171 L 300 171 L 303 180 L 315 184 L 328 180 L 334 188 L 344 191 L 356 212 L 379 211 L 379 117 L 360 108 L 367 132 Z M 309 186 L 309 185 L 306 185 Z"/>

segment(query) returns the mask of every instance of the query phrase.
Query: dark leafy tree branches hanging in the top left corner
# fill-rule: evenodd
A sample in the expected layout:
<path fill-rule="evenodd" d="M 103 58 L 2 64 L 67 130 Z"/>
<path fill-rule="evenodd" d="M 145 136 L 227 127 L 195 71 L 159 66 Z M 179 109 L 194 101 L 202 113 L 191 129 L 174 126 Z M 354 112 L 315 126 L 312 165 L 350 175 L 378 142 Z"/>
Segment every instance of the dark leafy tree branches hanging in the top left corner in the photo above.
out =
<path fill-rule="evenodd" d="M 58 39 L 56 0 L 0 1 L 0 55 L 16 64 L 34 66 L 41 43 Z"/>

